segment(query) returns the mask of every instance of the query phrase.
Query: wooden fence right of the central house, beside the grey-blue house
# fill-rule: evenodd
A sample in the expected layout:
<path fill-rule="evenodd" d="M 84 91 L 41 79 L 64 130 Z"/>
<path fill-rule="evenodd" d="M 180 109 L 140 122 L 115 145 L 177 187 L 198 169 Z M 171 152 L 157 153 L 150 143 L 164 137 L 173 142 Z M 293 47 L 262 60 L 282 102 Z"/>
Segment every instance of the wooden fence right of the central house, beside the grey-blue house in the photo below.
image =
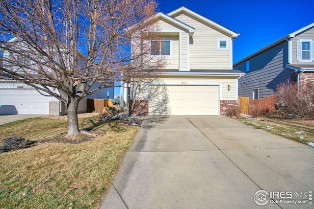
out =
<path fill-rule="evenodd" d="M 262 99 L 250 99 L 249 97 L 238 97 L 240 100 L 240 113 L 252 115 L 253 111 L 276 110 L 277 96 L 271 95 Z"/>

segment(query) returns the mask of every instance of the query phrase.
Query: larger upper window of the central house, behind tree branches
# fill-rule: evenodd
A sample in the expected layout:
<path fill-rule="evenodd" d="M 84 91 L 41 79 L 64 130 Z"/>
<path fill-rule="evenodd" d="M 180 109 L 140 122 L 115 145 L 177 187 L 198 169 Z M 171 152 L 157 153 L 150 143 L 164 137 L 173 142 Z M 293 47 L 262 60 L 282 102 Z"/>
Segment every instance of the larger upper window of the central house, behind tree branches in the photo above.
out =
<path fill-rule="evenodd" d="M 151 41 L 151 54 L 172 56 L 172 40 Z"/>

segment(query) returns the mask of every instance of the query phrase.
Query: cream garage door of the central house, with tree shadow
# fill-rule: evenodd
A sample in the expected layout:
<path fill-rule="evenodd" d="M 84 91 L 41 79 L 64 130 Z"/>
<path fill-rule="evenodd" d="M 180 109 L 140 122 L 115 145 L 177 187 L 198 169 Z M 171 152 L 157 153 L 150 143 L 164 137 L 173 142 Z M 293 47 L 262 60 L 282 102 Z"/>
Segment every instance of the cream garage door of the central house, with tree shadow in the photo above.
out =
<path fill-rule="evenodd" d="M 150 86 L 150 115 L 219 115 L 218 86 Z"/>

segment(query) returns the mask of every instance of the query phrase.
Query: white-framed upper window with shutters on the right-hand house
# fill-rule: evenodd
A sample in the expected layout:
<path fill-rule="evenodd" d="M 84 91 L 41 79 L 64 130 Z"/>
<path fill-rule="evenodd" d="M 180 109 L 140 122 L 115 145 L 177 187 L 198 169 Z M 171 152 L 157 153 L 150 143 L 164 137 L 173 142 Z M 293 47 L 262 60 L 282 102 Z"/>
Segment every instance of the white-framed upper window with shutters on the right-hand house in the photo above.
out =
<path fill-rule="evenodd" d="M 297 60 L 300 62 L 312 62 L 314 60 L 314 41 L 297 41 Z"/>

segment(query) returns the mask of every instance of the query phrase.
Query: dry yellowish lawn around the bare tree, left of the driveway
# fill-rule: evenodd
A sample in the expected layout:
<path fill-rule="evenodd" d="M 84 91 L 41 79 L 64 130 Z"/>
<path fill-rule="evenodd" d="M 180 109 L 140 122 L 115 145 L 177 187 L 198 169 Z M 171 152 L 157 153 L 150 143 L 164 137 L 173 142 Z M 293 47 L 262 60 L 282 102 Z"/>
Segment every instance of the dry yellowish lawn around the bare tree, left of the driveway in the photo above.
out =
<path fill-rule="evenodd" d="M 79 144 L 42 143 L 0 154 L 0 208 L 98 208 L 138 127 L 80 118 L 105 135 Z M 0 139 L 38 140 L 67 131 L 64 120 L 34 118 L 0 126 Z"/>

